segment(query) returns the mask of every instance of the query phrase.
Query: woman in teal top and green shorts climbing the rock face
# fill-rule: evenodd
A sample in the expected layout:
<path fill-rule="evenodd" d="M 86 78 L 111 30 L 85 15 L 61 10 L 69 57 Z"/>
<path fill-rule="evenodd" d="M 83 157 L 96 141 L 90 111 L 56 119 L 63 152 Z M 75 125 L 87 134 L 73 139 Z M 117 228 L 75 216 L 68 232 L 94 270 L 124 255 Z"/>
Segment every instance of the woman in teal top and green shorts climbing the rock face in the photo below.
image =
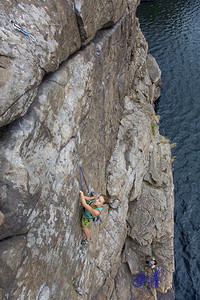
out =
<path fill-rule="evenodd" d="M 99 197 L 87 197 L 80 191 L 81 203 L 84 208 L 83 217 L 81 220 L 82 229 L 85 233 L 86 239 L 81 241 L 82 245 L 86 245 L 90 241 L 90 230 L 88 225 L 93 218 L 98 217 L 104 204 L 108 204 L 108 197 L 101 194 Z"/>

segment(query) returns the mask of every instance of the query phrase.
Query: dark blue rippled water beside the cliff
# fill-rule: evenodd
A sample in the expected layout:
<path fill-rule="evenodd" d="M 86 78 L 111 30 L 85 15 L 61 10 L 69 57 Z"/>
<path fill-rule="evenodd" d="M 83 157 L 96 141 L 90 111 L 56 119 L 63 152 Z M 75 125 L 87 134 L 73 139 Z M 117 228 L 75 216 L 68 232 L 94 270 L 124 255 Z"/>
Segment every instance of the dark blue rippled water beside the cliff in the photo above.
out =
<path fill-rule="evenodd" d="M 175 294 L 200 299 L 200 0 L 155 0 L 138 7 L 149 52 L 162 70 L 160 132 L 177 146 Z"/>

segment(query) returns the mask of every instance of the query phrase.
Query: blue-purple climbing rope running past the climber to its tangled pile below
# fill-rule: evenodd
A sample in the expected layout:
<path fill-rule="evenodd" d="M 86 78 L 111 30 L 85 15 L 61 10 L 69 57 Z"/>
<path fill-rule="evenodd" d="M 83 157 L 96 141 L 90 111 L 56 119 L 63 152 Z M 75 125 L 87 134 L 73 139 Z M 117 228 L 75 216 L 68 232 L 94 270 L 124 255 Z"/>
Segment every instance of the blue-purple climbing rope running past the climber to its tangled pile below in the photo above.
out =
<path fill-rule="evenodd" d="M 80 162 L 78 160 L 78 156 L 76 155 L 76 159 L 78 161 L 78 164 L 79 164 L 79 170 L 80 170 L 80 182 L 81 182 L 81 190 L 83 189 L 83 186 L 82 186 L 82 176 L 83 176 L 83 179 L 85 181 L 85 185 L 87 187 L 87 190 L 88 190 L 88 195 L 89 195 L 89 188 L 88 188 L 88 185 L 87 185 L 87 182 L 86 182 L 86 179 L 85 179 L 85 176 L 83 174 L 83 170 L 81 168 L 81 165 L 80 165 Z M 91 192 L 91 196 L 93 196 L 94 193 Z M 126 256 L 131 259 L 134 263 L 136 263 L 138 266 L 141 266 L 141 271 L 139 274 L 137 275 L 132 275 L 131 277 L 131 283 L 132 285 L 135 287 L 135 288 L 141 288 L 141 287 L 144 287 L 146 288 L 147 290 L 149 289 L 157 289 L 159 287 L 159 282 L 161 281 L 165 281 L 166 280 L 166 276 L 165 276 L 165 270 L 160 268 L 160 267 L 155 267 L 154 269 L 151 269 L 149 271 L 144 271 L 144 266 L 141 265 L 138 261 L 136 261 L 135 259 L 133 259 L 126 251 L 124 251 L 124 246 L 121 247 L 119 245 L 119 243 L 116 241 L 116 239 L 113 237 L 113 235 L 110 233 L 110 231 L 106 228 L 106 226 L 103 224 L 102 220 L 101 220 L 101 217 L 98 216 L 96 218 L 94 222 L 97 222 L 99 221 L 99 223 L 101 225 L 103 225 L 103 228 L 106 230 L 106 232 L 110 235 L 110 237 L 113 239 L 113 241 L 116 243 L 116 245 L 121 249 L 121 253 L 125 253 Z M 131 300 L 133 300 L 133 294 L 131 292 Z"/>

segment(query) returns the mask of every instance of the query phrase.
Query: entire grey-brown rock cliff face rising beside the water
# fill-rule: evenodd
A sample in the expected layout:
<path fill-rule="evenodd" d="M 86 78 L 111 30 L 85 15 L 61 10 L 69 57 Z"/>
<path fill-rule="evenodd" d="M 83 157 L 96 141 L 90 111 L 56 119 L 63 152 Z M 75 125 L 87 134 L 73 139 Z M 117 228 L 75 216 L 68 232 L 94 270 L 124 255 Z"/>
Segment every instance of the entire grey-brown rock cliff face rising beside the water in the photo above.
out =
<path fill-rule="evenodd" d="M 156 299 L 131 284 L 147 255 L 165 269 L 158 291 L 171 288 L 170 145 L 138 4 L 0 4 L 0 299 Z M 77 155 L 90 190 L 110 198 L 87 247 Z"/>

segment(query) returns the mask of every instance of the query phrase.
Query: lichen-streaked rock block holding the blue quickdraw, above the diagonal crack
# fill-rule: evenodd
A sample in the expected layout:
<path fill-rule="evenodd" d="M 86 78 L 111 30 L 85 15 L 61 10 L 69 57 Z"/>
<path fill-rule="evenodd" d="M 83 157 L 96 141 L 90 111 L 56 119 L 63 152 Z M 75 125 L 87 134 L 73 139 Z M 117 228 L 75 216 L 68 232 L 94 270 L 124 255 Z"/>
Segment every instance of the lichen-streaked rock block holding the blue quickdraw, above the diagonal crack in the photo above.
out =
<path fill-rule="evenodd" d="M 0 121 L 5 125 L 27 112 L 43 76 L 79 49 L 81 41 L 71 0 L 2 1 L 0 8 Z"/>

